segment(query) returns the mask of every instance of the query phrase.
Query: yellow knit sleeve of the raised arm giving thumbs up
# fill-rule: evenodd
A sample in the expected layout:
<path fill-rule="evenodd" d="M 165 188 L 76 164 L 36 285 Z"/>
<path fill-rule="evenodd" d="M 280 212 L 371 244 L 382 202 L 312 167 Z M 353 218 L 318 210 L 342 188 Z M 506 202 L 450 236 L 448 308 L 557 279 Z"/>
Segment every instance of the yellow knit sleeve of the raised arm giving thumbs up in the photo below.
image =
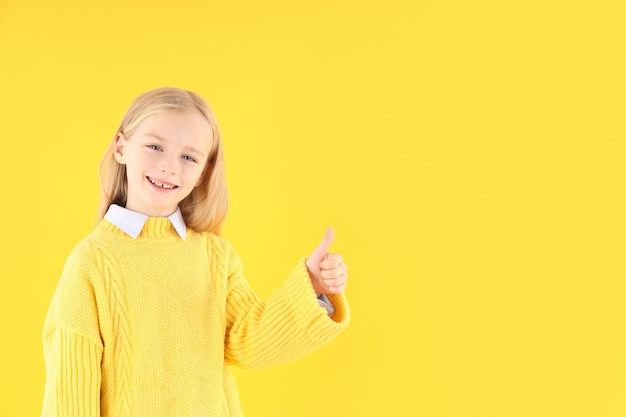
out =
<path fill-rule="evenodd" d="M 336 312 L 319 305 L 305 259 L 264 302 L 250 289 L 241 261 L 231 250 L 226 302 L 225 358 L 244 368 L 262 368 L 306 355 L 333 340 L 350 320 L 344 295 L 329 297 Z"/>

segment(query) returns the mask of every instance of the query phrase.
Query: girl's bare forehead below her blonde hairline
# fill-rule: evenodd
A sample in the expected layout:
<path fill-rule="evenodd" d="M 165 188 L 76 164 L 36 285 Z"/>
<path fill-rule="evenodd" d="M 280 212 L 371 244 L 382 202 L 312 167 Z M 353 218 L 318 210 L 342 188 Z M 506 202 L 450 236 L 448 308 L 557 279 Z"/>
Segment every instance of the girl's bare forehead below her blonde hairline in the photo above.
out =
<path fill-rule="evenodd" d="M 164 111 L 151 114 L 137 127 L 135 135 L 158 136 L 166 141 L 199 147 L 207 152 L 213 143 L 213 130 L 199 111 Z"/>

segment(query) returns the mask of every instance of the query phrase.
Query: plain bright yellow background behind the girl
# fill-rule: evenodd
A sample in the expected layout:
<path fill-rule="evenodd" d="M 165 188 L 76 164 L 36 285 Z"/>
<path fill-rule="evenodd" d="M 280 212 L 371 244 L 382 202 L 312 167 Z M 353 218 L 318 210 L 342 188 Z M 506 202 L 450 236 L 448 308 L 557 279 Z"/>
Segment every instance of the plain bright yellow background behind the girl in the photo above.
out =
<path fill-rule="evenodd" d="M 0 416 L 130 101 L 196 90 L 263 297 L 336 230 L 353 322 L 236 372 L 248 416 L 626 415 L 626 10 L 606 1 L 0 3 Z"/>

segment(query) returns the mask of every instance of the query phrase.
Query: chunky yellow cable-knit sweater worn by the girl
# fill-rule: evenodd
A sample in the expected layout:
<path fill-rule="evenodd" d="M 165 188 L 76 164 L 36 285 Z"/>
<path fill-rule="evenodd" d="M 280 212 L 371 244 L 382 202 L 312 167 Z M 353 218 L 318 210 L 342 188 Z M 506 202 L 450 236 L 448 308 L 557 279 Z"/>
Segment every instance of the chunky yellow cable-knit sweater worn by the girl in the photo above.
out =
<path fill-rule="evenodd" d="M 229 365 L 293 360 L 349 321 L 320 307 L 304 259 L 267 302 L 235 251 L 210 233 L 182 240 L 166 218 L 133 239 L 108 220 L 69 256 L 43 332 L 43 416 L 242 415 Z"/>

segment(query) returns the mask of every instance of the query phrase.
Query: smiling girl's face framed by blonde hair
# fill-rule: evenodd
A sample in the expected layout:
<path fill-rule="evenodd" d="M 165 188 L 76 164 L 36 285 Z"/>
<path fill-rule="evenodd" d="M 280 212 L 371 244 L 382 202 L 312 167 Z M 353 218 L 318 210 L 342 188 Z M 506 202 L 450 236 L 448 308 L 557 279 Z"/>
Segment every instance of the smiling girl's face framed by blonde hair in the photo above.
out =
<path fill-rule="evenodd" d="M 164 111 L 148 116 L 133 135 L 120 134 L 115 159 L 126 165 L 126 208 L 169 216 L 200 184 L 213 135 L 200 112 Z"/>

